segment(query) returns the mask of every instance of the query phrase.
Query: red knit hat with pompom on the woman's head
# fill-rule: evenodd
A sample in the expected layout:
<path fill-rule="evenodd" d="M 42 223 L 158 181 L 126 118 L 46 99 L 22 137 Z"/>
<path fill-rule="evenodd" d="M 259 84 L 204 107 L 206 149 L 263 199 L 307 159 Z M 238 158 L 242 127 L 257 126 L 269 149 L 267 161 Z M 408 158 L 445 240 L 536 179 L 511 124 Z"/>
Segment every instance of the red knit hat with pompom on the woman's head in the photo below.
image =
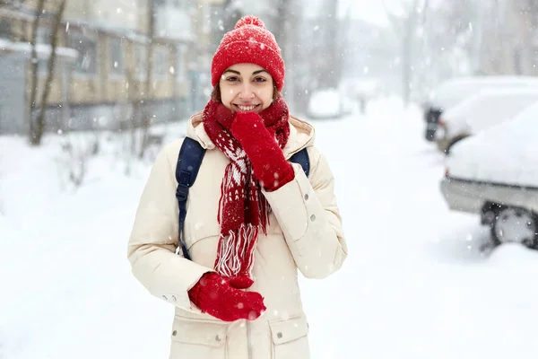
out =
<path fill-rule="evenodd" d="M 271 31 L 256 16 L 239 19 L 235 29 L 224 34 L 211 64 L 211 83 L 219 83 L 221 74 L 235 64 L 262 66 L 273 77 L 278 91 L 284 86 L 284 61 Z"/>

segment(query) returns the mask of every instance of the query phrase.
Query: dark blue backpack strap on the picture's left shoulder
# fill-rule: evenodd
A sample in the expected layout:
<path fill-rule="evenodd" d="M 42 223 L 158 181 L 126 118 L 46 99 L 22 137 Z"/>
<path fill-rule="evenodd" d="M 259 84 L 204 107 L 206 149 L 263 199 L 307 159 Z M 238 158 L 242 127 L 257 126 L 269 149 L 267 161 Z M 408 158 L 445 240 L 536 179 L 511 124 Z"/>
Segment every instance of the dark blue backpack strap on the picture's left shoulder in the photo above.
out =
<path fill-rule="evenodd" d="M 191 259 L 185 241 L 181 239 L 185 218 L 187 216 L 187 197 L 188 188 L 191 187 L 196 180 L 198 170 L 204 159 L 205 150 L 192 138 L 185 137 L 178 155 L 178 165 L 176 166 L 176 180 L 178 180 L 178 188 L 176 189 L 176 197 L 178 198 L 179 206 L 179 235 L 178 243 L 183 252 L 183 258 Z"/>

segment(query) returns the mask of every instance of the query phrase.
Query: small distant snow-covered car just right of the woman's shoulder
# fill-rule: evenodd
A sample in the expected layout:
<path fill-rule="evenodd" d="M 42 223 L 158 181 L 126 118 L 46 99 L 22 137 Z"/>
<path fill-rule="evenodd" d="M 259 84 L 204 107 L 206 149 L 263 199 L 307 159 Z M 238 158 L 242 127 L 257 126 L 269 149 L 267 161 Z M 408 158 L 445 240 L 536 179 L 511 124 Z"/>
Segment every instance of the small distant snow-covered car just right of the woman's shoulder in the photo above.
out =
<path fill-rule="evenodd" d="M 312 119 L 342 118 L 352 112 L 352 103 L 338 90 L 329 88 L 312 92 L 307 117 Z"/>

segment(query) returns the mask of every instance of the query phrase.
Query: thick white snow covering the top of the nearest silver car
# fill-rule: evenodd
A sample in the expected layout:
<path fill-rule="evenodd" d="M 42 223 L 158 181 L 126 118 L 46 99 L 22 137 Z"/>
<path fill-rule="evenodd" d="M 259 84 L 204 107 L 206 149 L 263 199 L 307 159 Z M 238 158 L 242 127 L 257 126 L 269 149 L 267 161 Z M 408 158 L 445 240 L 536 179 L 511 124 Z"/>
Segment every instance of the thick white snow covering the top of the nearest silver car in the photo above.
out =
<path fill-rule="evenodd" d="M 458 142 L 450 150 L 450 175 L 538 187 L 538 101 L 514 118 Z"/>

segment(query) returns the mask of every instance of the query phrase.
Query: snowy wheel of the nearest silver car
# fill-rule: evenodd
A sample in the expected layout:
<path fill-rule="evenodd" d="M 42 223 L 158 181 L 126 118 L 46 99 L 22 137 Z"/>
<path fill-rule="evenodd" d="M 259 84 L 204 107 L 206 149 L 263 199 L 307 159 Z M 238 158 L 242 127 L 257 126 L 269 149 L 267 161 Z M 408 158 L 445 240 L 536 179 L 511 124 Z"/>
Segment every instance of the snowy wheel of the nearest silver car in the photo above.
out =
<path fill-rule="evenodd" d="M 504 207 L 493 220 L 491 236 L 495 244 L 515 242 L 538 249 L 538 217 L 523 208 Z"/>

